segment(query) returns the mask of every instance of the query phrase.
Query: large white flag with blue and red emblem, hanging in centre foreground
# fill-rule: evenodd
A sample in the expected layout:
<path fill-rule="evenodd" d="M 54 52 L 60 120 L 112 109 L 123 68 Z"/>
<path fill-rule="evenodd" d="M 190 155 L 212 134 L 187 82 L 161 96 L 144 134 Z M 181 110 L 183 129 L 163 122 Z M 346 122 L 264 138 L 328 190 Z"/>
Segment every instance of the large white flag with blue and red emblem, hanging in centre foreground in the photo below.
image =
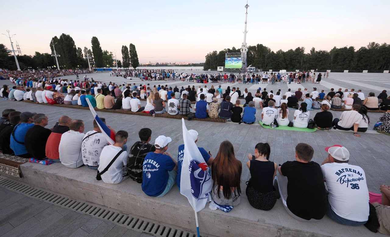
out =
<path fill-rule="evenodd" d="M 184 157 L 181 168 L 180 193 L 187 197 L 195 212 L 202 210 L 211 201 L 210 192 L 213 181 L 209 167 L 190 136 L 184 119 L 183 125 Z"/>

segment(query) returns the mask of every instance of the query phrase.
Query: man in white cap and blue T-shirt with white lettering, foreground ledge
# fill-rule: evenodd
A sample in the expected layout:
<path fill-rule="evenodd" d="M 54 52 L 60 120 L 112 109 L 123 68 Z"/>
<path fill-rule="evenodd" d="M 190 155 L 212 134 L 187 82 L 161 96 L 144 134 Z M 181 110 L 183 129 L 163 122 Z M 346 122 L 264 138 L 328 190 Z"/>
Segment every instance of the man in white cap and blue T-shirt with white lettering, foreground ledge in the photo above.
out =
<path fill-rule="evenodd" d="M 177 163 L 167 152 L 170 137 L 163 135 L 154 140 L 156 151 L 145 156 L 142 167 L 142 191 L 151 197 L 163 197 L 175 184 Z"/>

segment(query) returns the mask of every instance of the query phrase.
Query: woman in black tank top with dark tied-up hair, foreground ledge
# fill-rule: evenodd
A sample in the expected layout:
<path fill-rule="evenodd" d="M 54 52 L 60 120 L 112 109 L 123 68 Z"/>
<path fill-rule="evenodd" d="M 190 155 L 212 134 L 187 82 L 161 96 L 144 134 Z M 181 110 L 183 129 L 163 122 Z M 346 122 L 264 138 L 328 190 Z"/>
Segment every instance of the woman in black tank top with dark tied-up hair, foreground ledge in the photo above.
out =
<path fill-rule="evenodd" d="M 273 180 L 277 171 L 277 164 L 269 161 L 271 148 L 268 143 L 258 143 L 255 146 L 255 155 L 248 154 L 250 176 L 246 186 L 246 196 L 252 207 L 269 211 L 276 203 L 276 193 Z"/>

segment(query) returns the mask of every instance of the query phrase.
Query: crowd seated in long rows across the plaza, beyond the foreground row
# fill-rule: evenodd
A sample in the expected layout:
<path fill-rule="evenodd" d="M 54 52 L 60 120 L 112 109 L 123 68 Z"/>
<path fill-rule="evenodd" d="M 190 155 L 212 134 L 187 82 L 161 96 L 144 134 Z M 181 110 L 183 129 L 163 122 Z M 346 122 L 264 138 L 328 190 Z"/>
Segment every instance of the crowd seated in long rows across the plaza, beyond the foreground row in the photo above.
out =
<path fill-rule="evenodd" d="M 134 71 L 133 71 L 134 72 Z M 169 72 L 167 72 L 169 73 Z M 174 73 L 174 72 L 172 72 Z M 267 74 L 265 74 L 267 75 Z M 279 76 L 279 74 L 278 74 Z M 278 80 L 278 76 L 276 77 Z M 293 77 L 294 78 L 294 77 Z M 310 78 L 310 74 L 309 77 Z M 255 78 L 256 79 L 256 78 Z M 299 79 L 297 79 L 299 82 Z M 390 97 L 383 90 L 378 96 L 373 92 L 368 96 L 355 89 L 333 88 L 325 94 L 324 90 L 317 91 L 313 87 L 311 92 L 291 91 L 289 88 L 284 95 L 281 89 L 274 93 L 266 88 L 257 90 L 254 95 L 247 88 L 241 91 L 238 87 L 227 86 L 223 91 L 221 84 L 188 86 L 181 88 L 168 85 L 154 85 L 143 83 L 137 86 L 131 84 L 101 83 L 89 79 L 86 75 L 82 80 L 67 79 L 16 79 L 15 86 L 8 88 L 4 85 L 0 90 L 0 97 L 10 100 L 30 100 L 35 103 L 67 104 L 88 107 L 87 98 L 97 109 L 114 109 L 132 112 L 146 112 L 154 114 L 168 113 L 170 115 L 184 115 L 189 118 L 222 118 L 234 123 L 253 124 L 256 122 L 257 109 L 261 109 L 261 122 L 271 127 L 291 126 L 296 128 L 319 128 L 330 130 L 353 130 L 366 132 L 370 125 L 368 111 L 381 109 L 390 110 Z M 146 105 L 141 106 L 141 100 Z M 245 103 L 241 105 L 241 100 Z M 299 103 L 299 101 L 303 101 Z M 191 105 L 195 104 L 195 105 Z M 333 118 L 330 109 L 344 109 L 340 118 Z M 294 110 L 294 112 L 293 112 Z M 316 112 L 310 119 L 310 112 Z M 293 113 L 294 119 L 289 120 Z M 379 121 L 375 130 L 390 133 L 386 116 Z"/>

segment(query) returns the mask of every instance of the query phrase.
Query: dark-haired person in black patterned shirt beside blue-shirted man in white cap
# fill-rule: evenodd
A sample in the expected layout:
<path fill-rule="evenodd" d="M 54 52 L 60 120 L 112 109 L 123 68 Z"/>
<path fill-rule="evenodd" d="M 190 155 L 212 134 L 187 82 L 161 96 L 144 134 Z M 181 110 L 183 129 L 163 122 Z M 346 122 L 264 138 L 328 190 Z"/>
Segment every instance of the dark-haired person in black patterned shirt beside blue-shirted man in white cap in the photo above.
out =
<path fill-rule="evenodd" d="M 130 178 L 137 181 L 137 183 L 142 183 L 142 165 L 144 164 L 145 156 L 150 151 L 156 151 L 156 147 L 149 144 L 152 139 L 152 130 L 150 128 L 142 128 L 138 135 L 141 141 L 135 142 L 130 148 L 127 167 Z"/>

